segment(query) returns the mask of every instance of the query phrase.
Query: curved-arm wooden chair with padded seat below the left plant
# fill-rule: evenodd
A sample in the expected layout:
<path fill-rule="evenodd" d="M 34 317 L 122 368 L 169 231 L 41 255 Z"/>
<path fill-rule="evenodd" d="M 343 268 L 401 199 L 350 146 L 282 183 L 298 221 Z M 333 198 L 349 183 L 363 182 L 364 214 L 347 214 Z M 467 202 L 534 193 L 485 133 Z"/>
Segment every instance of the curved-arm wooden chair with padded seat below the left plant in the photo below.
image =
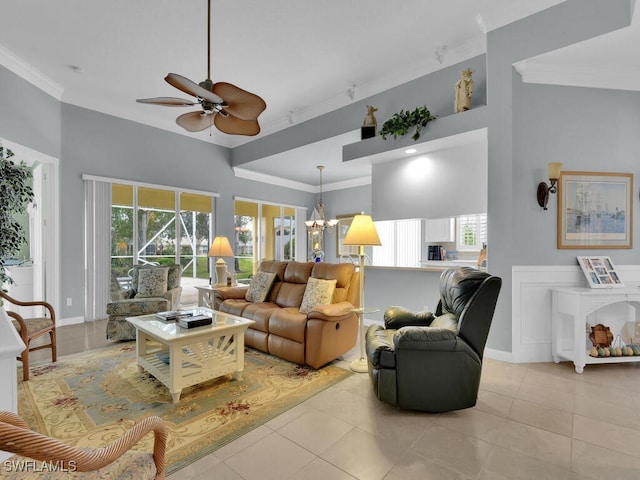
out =
<path fill-rule="evenodd" d="M 16 312 L 7 311 L 7 314 L 12 318 L 12 322 L 16 330 L 20 334 L 22 341 L 27 348 L 20 354 L 18 360 L 22 362 L 22 379 L 26 382 L 29 380 L 29 352 L 35 352 L 36 350 L 42 350 L 43 348 L 51 349 L 51 361 L 57 360 L 56 351 L 56 314 L 53 311 L 51 304 L 42 301 L 21 302 L 15 298 L 10 297 L 5 292 L 0 290 L 0 297 L 5 302 L 9 302 L 13 305 L 21 307 L 37 307 L 42 306 L 46 309 L 45 316 L 34 318 L 23 318 Z M 5 303 L 5 309 L 7 305 Z M 48 316 L 47 316 L 48 313 Z M 41 337 L 42 335 L 49 334 L 50 343 L 41 344 L 32 347 L 31 341 Z"/>

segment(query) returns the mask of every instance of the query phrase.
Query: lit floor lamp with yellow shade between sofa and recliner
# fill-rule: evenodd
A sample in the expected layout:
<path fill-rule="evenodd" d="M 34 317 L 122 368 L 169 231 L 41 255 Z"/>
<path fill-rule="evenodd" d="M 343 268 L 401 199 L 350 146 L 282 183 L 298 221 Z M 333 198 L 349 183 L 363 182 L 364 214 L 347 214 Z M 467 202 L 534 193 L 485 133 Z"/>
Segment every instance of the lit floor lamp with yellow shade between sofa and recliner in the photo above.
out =
<path fill-rule="evenodd" d="M 354 216 L 343 243 L 344 245 L 357 246 L 360 249 L 360 307 L 355 309 L 360 328 L 360 358 L 351 362 L 349 367 L 354 372 L 362 373 L 368 370 L 364 348 L 364 314 L 378 310 L 377 308 L 367 309 L 364 305 L 364 247 L 382 245 L 371 216 L 364 213 Z"/>

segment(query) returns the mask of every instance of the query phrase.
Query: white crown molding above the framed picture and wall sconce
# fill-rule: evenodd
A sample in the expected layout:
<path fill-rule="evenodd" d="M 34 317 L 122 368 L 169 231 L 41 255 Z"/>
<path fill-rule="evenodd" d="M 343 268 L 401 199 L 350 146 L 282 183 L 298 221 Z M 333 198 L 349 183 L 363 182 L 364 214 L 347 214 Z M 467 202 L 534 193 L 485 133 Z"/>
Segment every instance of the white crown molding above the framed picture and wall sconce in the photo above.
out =
<path fill-rule="evenodd" d="M 629 66 L 614 72 L 597 66 L 562 66 L 524 60 L 513 65 L 524 83 L 563 85 L 570 87 L 606 88 L 610 90 L 640 91 L 636 79 L 640 68 Z"/>

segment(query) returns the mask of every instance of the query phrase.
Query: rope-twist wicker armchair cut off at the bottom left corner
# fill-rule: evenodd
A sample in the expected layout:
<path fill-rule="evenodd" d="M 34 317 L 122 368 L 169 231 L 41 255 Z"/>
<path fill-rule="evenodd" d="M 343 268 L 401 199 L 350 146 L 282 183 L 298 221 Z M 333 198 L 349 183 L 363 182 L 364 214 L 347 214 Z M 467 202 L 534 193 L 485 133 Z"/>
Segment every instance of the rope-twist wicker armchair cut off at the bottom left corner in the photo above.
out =
<path fill-rule="evenodd" d="M 153 431 L 153 455 L 142 451 L 129 451 L 142 437 Z M 16 455 L 4 461 L 7 465 L 24 465 L 26 459 L 46 462 L 58 470 L 47 473 L 49 479 L 67 478 L 135 478 L 164 480 L 167 428 L 160 417 L 152 416 L 136 423 L 117 440 L 102 448 L 78 448 L 67 445 L 29 429 L 15 413 L 0 411 L 0 450 Z M 22 463 L 21 463 L 22 461 Z M 82 475 L 70 472 L 93 472 Z M 15 471 L 15 478 L 28 472 Z M 44 478 L 34 472 L 35 478 Z M 4 478 L 4 476 L 3 476 Z M 13 477 L 10 477 L 13 478 Z"/>

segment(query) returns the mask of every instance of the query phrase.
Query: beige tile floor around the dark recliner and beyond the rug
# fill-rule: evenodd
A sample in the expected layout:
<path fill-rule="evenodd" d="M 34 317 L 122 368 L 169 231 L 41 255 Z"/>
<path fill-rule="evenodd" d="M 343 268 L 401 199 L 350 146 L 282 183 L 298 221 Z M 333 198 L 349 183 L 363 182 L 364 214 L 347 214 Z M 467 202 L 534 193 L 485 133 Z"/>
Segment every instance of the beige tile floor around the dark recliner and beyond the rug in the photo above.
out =
<path fill-rule="evenodd" d="M 105 345 L 104 328 L 60 328 L 60 355 Z M 444 414 L 389 407 L 355 374 L 168 477 L 192 478 L 640 479 L 640 364 L 486 359 L 477 406 Z"/>

